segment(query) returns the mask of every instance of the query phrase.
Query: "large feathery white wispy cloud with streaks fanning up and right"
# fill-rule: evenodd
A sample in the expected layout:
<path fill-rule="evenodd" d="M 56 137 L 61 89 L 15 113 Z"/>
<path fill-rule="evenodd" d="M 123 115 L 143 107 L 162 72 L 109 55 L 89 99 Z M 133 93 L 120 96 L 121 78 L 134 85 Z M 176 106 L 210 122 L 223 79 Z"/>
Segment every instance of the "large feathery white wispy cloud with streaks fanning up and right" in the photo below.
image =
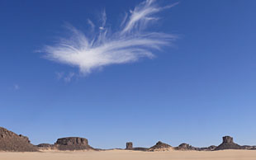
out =
<path fill-rule="evenodd" d="M 46 45 L 43 51 L 45 58 L 59 63 L 69 64 L 79 68 L 80 73 L 87 75 L 95 69 L 111 64 L 126 64 L 146 57 L 153 58 L 153 51 L 170 45 L 176 35 L 147 32 L 145 29 L 152 22 L 158 21 L 156 13 L 177 3 L 159 7 L 154 0 L 141 2 L 126 16 L 117 31 L 107 27 L 107 14 L 102 12 L 101 25 L 98 31 L 94 23 L 88 19 L 93 34 L 85 35 L 73 26 L 68 26 L 71 36 L 59 40 L 55 45 Z M 66 77 L 67 82 L 73 78 L 73 73 Z"/>

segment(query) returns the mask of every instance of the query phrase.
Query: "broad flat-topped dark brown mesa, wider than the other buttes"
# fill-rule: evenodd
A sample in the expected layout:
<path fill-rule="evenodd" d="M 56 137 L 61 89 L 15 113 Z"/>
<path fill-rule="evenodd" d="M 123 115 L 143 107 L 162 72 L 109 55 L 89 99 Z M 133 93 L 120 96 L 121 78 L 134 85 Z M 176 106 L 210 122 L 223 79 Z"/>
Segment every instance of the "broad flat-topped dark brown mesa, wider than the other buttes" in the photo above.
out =
<path fill-rule="evenodd" d="M 88 144 L 88 139 L 80 137 L 66 137 L 57 139 L 55 147 L 59 150 L 88 150 L 94 149 Z"/>

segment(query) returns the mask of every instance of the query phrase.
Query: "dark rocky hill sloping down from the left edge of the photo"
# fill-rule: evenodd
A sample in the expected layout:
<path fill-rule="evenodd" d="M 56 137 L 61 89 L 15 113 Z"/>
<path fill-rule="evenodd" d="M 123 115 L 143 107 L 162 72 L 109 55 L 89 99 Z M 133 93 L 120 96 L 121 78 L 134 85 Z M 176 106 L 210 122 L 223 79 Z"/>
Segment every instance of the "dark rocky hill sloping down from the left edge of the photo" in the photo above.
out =
<path fill-rule="evenodd" d="M 36 146 L 21 134 L 15 134 L 10 130 L 0 127 L 0 150 L 12 152 L 35 152 Z"/>

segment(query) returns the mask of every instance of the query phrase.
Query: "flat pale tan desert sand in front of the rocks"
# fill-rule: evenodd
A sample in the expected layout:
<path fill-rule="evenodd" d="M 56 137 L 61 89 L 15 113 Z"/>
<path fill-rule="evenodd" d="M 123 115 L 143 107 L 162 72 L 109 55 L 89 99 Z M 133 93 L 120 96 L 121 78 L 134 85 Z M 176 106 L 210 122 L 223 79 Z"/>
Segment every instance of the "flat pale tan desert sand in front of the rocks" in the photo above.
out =
<path fill-rule="evenodd" d="M 0 160 L 256 160 L 256 151 L 140 152 L 112 150 L 101 152 L 0 153 Z"/>

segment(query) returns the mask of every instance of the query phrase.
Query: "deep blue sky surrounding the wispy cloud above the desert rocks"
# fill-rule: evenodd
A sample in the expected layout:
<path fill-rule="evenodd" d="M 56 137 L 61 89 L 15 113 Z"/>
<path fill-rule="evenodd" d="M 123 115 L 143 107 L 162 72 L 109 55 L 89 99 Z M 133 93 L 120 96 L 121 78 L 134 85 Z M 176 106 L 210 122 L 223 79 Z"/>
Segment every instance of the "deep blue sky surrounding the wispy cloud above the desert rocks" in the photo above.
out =
<path fill-rule="evenodd" d="M 157 21 L 141 21 L 145 30 L 121 35 L 129 23 L 120 26 L 125 12 L 129 17 L 141 2 L 3 0 L 0 125 L 27 135 L 33 144 L 80 136 L 96 148 L 124 148 L 127 141 L 149 147 L 158 140 L 200 147 L 220 144 L 226 134 L 239 144 L 256 144 L 256 2 L 158 1 L 154 5 L 159 7 L 179 3 L 149 15 Z M 119 49 L 110 53 L 106 65 L 96 60 L 88 66 L 92 61 L 87 56 L 74 62 L 66 48 L 61 48 L 70 55 L 66 63 L 50 60 L 59 38 L 76 45 L 67 26 L 94 36 L 88 19 L 97 31 L 111 28 L 112 35 L 99 46 L 120 37 L 127 40 L 130 34 L 133 40 L 153 32 L 177 37 L 147 35 L 145 40 L 168 45 L 133 46 L 141 53 L 121 49 L 132 57 L 125 63 L 112 61 Z M 105 53 L 99 50 L 99 55 Z"/>

